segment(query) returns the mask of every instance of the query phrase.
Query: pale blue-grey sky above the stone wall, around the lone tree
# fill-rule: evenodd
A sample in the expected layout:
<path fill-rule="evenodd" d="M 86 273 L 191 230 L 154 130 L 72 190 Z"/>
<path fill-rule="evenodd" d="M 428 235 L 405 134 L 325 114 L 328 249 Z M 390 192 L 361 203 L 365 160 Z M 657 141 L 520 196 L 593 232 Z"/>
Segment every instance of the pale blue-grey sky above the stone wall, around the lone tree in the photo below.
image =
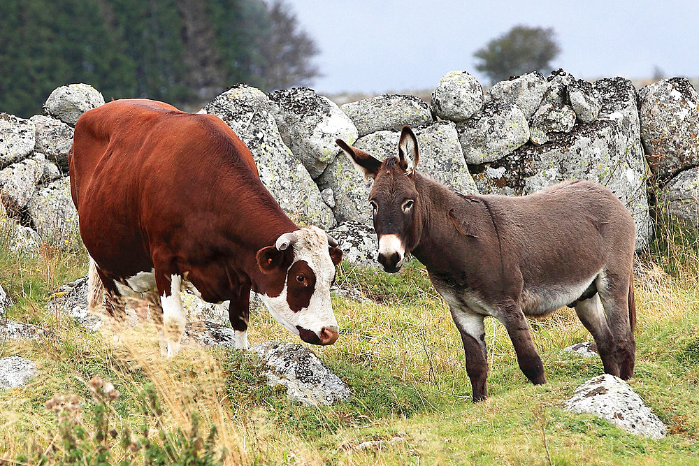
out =
<path fill-rule="evenodd" d="M 553 27 L 553 65 L 576 78 L 699 76 L 699 0 L 287 0 L 315 40 L 317 92 L 435 87 L 475 71 L 473 52 L 516 24 Z"/>

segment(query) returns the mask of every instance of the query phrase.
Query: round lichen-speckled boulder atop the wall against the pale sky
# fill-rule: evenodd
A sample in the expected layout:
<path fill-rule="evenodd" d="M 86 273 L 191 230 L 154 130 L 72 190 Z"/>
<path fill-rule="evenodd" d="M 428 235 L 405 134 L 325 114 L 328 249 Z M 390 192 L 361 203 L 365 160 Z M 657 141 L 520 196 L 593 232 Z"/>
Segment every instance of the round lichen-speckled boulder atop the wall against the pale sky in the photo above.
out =
<path fill-rule="evenodd" d="M 462 122 L 483 108 L 483 87 L 466 71 L 452 71 L 442 76 L 432 93 L 435 115 L 452 122 Z"/>

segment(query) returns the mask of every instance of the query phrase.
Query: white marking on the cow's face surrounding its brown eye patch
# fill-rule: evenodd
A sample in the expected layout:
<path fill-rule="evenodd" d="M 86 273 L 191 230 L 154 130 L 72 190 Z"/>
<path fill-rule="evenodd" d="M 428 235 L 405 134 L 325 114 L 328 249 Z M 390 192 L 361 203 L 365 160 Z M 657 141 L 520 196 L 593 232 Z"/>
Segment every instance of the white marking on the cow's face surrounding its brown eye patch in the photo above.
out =
<path fill-rule="evenodd" d="M 299 334 L 297 326 L 320 335 L 323 328 L 338 330 L 338 321 L 333 314 L 330 300 L 330 286 L 335 277 L 335 264 L 330 258 L 328 237 L 315 226 L 295 231 L 298 240 L 294 243 L 294 259 L 289 269 L 298 261 L 305 261 L 315 273 L 315 289 L 308 307 L 294 312 L 289 306 L 288 279 L 284 277 L 284 289 L 279 296 L 261 295 L 267 309 L 276 321 L 294 335 Z M 289 274 L 287 269 L 287 275 Z M 294 278 L 294 277 L 292 277 Z"/>

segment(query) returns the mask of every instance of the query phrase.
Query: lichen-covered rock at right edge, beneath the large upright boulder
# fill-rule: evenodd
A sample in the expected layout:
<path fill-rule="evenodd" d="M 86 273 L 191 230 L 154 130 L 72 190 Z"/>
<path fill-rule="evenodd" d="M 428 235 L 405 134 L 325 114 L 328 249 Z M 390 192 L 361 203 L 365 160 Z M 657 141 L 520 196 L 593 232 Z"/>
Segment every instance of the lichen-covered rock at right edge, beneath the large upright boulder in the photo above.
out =
<path fill-rule="evenodd" d="M 699 227 L 699 167 L 672 177 L 656 196 L 658 212 Z"/>

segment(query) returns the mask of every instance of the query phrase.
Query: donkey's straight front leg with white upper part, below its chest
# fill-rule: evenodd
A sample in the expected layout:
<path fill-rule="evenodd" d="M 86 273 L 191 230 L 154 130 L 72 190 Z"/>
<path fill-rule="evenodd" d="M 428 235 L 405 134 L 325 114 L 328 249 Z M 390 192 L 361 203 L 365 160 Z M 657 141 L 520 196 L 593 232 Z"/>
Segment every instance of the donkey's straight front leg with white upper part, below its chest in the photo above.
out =
<path fill-rule="evenodd" d="M 473 402 L 488 398 L 488 349 L 485 345 L 483 316 L 459 307 L 449 306 L 456 328 L 461 333 L 466 373 L 471 380 Z"/>

